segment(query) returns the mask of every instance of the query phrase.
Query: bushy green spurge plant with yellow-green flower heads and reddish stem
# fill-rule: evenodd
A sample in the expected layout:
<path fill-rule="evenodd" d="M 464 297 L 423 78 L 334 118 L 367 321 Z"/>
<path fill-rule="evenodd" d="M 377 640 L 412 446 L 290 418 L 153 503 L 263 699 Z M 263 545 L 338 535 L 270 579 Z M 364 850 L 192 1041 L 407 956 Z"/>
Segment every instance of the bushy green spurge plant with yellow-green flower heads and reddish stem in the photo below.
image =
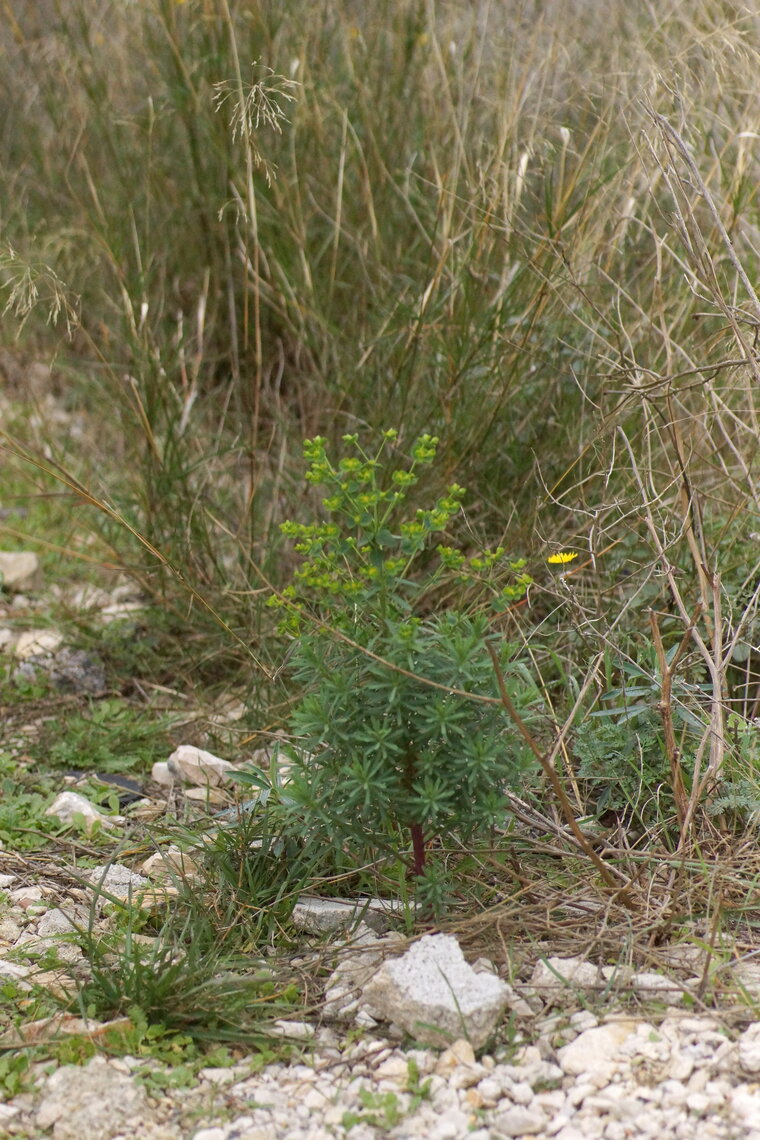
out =
<path fill-rule="evenodd" d="M 430 841 L 487 833 L 523 766 L 487 640 L 513 699 L 534 701 L 488 612 L 489 603 L 504 611 L 530 579 L 502 547 L 468 557 L 439 540 L 460 510 L 458 484 L 428 510 L 404 506 L 438 439 L 419 437 L 407 463 L 392 461 L 395 440 L 385 432 L 370 456 L 345 435 L 352 454 L 337 465 L 324 439 L 304 445 L 327 521 L 281 528 L 303 559 L 272 601 L 295 640 L 293 673 L 304 690 L 292 719 L 299 747 L 287 809 L 361 863 L 403 857 L 418 897 L 439 909 L 444 879 Z M 430 616 L 443 586 L 459 588 L 465 611 Z"/>

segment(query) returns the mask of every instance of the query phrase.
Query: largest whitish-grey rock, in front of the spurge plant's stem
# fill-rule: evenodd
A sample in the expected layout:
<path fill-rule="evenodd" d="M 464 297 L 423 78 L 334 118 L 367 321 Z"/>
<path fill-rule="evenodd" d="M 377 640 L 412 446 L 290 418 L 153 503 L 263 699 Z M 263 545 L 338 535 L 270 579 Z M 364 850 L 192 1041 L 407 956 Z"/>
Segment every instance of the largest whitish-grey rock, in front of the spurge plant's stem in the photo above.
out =
<path fill-rule="evenodd" d="M 370 1017 L 392 1021 L 424 1044 L 446 1047 L 467 1037 L 485 1044 L 507 1003 L 504 982 L 475 974 L 450 935 L 425 935 L 401 958 L 390 959 L 365 985 Z"/>

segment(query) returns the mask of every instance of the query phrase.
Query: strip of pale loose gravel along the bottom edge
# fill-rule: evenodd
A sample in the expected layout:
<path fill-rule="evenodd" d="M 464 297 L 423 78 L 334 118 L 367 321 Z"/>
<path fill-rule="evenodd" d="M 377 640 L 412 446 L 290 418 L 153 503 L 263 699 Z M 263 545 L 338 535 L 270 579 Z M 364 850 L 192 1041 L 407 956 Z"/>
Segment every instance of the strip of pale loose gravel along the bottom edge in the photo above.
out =
<path fill-rule="evenodd" d="M 660 1024 L 583 1029 L 559 1050 L 558 1067 L 541 1057 L 551 1056 L 545 1039 L 499 1061 L 477 1058 L 465 1040 L 440 1054 L 407 1052 L 322 1027 L 305 1062 L 209 1068 L 196 1088 L 158 1101 L 138 1082 L 153 1065 L 145 1058 L 65 1067 L 33 1104 L 11 1101 L 0 1127 L 51 1140 L 760 1140 L 760 1092 L 739 1064 L 753 1064 L 759 1040 L 760 1024 L 732 1042 L 716 1019 L 673 1011 Z M 571 1072 L 580 1068 L 566 1060 L 578 1042 L 590 1067 Z"/>

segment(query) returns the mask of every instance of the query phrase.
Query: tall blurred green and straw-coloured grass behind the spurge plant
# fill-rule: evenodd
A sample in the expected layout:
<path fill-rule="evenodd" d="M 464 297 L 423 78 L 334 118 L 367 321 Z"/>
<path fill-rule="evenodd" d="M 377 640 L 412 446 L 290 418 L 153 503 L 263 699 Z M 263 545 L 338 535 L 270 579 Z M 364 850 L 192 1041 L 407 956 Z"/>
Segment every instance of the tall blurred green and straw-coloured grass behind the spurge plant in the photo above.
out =
<path fill-rule="evenodd" d="M 539 585 L 551 549 L 583 555 L 521 626 L 562 700 L 620 654 L 655 676 L 645 608 L 684 633 L 667 563 L 708 641 L 743 622 L 752 711 L 755 11 L 2 10 L 3 339 L 83 416 L 6 423 L 8 470 L 65 472 L 204 659 L 278 665 L 261 575 L 285 584 L 277 524 L 313 511 L 302 439 L 398 427 L 441 437 L 420 492 L 468 488 L 465 543 Z"/>

